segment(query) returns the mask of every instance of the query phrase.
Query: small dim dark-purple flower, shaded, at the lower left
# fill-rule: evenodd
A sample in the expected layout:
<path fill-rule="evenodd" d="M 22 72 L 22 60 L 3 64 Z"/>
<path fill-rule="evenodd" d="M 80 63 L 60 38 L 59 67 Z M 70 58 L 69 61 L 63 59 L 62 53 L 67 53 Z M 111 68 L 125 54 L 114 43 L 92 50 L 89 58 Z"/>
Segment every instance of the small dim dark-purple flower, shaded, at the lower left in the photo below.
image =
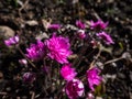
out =
<path fill-rule="evenodd" d="M 35 75 L 33 73 L 24 73 L 22 78 L 24 82 L 33 82 L 35 80 Z"/>

